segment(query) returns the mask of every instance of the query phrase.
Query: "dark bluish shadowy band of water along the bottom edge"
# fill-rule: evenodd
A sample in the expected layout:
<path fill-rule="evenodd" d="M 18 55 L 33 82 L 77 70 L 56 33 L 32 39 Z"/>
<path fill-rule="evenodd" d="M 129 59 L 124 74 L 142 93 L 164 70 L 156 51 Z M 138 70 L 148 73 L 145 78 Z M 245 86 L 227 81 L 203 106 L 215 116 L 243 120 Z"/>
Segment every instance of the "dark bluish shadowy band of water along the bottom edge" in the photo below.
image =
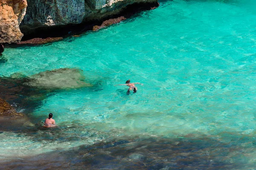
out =
<path fill-rule="evenodd" d="M 55 133 L 57 135 L 58 133 Z M 0 163 L 4 169 L 247 169 L 254 164 L 246 155 L 253 153 L 251 136 L 221 134 L 181 136 L 175 139 L 112 139 L 68 151 L 44 153 Z M 216 137 L 216 136 L 215 136 Z M 229 139 L 225 141 L 225 139 Z M 54 142 L 54 141 L 52 141 Z M 50 143 L 49 143 L 50 144 Z M 249 149 L 250 148 L 250 149 Z"/>

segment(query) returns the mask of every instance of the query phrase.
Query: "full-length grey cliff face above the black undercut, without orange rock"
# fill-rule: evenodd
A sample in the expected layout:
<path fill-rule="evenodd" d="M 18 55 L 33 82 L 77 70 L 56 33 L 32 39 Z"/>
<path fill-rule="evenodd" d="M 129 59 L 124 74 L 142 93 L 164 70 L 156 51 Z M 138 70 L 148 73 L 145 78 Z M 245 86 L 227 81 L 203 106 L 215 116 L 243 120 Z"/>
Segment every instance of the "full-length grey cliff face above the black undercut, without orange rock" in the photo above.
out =
<path fill-rule="evenodd" d="M 79 24 L 118 13 L 133 3 L 157 0 L 27 0 L 28 7 L 21 27 Z"/>

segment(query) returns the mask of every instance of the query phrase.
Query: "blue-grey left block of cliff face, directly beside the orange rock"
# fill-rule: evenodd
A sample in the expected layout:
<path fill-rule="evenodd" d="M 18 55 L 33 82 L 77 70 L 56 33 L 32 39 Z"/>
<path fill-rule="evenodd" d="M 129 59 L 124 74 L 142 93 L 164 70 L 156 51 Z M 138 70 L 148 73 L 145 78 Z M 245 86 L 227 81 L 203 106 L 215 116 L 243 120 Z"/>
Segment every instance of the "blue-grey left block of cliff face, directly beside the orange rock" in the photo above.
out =
<path fill-rule="evenodd" d="M 55 26 L 81 23 L 84 0 L 28 0 L 23 25 Z"/>

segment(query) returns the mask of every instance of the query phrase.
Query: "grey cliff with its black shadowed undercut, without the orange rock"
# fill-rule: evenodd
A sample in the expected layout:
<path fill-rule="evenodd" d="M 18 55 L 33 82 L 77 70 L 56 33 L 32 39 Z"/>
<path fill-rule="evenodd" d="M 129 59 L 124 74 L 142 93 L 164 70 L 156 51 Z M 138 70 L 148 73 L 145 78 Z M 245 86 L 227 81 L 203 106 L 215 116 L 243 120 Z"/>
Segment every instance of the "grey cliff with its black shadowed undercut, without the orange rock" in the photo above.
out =
<path fill-rule="evenodd" d="M 23 34 L 28 35 L 28 37 L 24 37 L 24 40 L 36 37 L 39 33 L 41 38 L 61 36 L 67 34 L 67 32 L 74 31 L 79 27 L 79 24 L 80 30 L 91 30 L 93 24 L 120 14 L 127 6 L 135 4 L 140 7 L 148 6 L 148 4 L 158 6 L 157 0 L 27 1 L 27 12 L 20 25 Z M 131 10 L 134 10 L 133 7 L 131 7 Z"/>

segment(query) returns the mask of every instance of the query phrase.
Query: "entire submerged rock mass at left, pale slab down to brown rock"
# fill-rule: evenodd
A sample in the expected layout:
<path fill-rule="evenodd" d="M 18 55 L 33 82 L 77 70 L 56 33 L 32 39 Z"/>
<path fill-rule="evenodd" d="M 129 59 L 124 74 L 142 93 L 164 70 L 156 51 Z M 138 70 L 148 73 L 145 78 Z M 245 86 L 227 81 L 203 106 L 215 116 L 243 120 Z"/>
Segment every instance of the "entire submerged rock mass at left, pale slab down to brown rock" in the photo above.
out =
<path fill-rule="evenodd" d="M 53 91 L 93 86 L 84 82 L 84 79 L 82 71 L 76 68 L 44 71 L 31 77 L 20 73 L 11 77 L 0 77 L 1 129 L 9 131 L 35 126 L 30 121 L 33 115 L 28 118 L 26 113 L 32 113 Z M 15 105 L 15 108 L 25 108 L 24 114 L 17 112 L 9 103 Z"/>

